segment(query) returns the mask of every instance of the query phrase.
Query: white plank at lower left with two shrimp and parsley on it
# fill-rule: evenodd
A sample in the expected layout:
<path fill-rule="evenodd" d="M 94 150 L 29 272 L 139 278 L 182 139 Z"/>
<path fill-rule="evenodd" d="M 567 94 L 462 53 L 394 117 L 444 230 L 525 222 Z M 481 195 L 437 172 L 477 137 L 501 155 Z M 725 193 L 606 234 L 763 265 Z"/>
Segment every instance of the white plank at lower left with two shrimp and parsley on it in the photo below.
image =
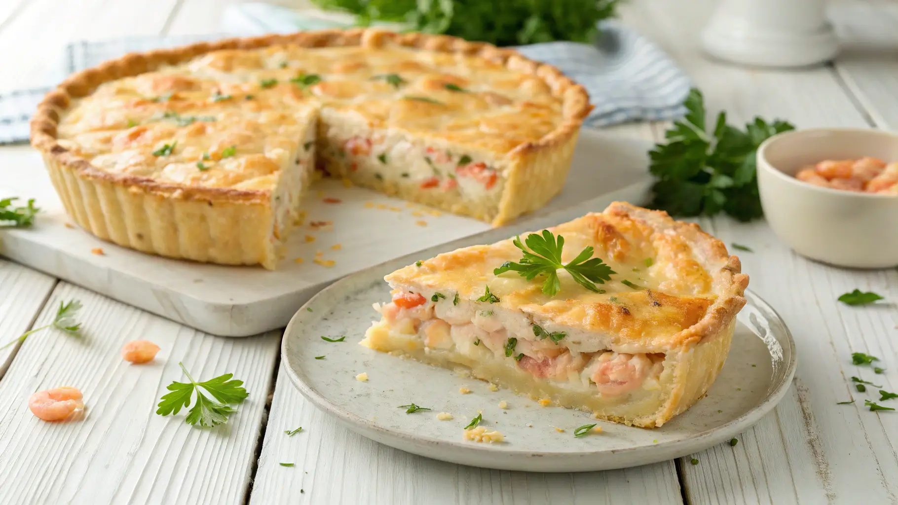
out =
<path fill-rule="evenodd" d="M 84 336 L 33 335 L 0 381 L 0 503 L 242 503 L 263 423 L 278 335 L 229 339 L 59 283 L 38 318 L 47 324 L 61 300 L 81 300 Z M 145 365 L 123 361 L 129 340 L 162 347 Z M 215 429 L 162 417 L 156 403 L 183 361 L 195 378 L 232 372 L 249 398 Z M 43 422 L 28 397 L 51 387 L 84 393 L 84 417 Z M 14 464 L 10 463 L 14 462 Z"/>

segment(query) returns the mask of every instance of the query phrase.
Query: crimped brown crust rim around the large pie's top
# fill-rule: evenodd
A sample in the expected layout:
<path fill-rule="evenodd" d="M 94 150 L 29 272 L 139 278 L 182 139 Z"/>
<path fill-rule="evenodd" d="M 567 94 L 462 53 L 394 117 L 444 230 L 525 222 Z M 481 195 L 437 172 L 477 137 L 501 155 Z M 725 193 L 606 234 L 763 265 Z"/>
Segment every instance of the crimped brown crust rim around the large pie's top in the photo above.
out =
<path fill-rule="evenodd" d="M 177 199 L 198 199 L 212 202 L 259 202 L 261 199 L 267 198 L 268 194 L 260 191 L 219 187 L 185 187 L 163 184 L 151 178 L 111 174 L 93 168 L 84 158 L 71 154 L 64 146 L 59 144 L 57 126 L 60 113 L 69 106 L 72 99 L 90 94 L 101 83 L 121 77 L 143 74 L 161 65 L 174 65 L 211 51 L 263 48 L 276 44 L 315 48 L 357 45 L 379 47 L 387 43 L 429 51 L 478 56 L 501 63 L 508 68 L 528 72 L 543 79 L 550 86 L 553 94 L 562 98 L 564 121 L 556 131 L 545 135 L 540 141 L 518 146 L 515 152 L 521 155 L 526 153 L 533 156 L 535 152 L 550 150 L 554 146 L 573 144 L 573 142 L 576 142 L 578 128 L 583 118 L 592 109 L 589 105 L 589 97 L 582 86 L 565 77 L 557 68 L 533 62 L 519 55 L 513 49 L 496 48 L 489 44 L 468 42 L 464 39 L 444 35 L 423 33 L 398 34 L 378 29 L 304 31 L 289 35 L 266 35 L 246 39 L 200 42 L 181 48 L 157 49 L 143 54 L 129 54 L 73 74 L 63 83 L 60 83 L 56 90 L 49 92 L 44 100 L 40 102 L 37 112 L 31 119 L 31 145 L 43 152 L 45 156 L 52 158 L 57 165 L 64 166 L 68 170 L 74 170 L 75 174 L 80 178 L 97 182 L 109 182 L 133 190 L 144 191 L 147 194 Z M 551 190 L 554 189 L 551 188 Z M 505 221 L 501 216 L 512 212 L 513 207 L 512 203 L 503 204 L 503 208 L 506 210 L 497 217 L 497 224 Z"/>

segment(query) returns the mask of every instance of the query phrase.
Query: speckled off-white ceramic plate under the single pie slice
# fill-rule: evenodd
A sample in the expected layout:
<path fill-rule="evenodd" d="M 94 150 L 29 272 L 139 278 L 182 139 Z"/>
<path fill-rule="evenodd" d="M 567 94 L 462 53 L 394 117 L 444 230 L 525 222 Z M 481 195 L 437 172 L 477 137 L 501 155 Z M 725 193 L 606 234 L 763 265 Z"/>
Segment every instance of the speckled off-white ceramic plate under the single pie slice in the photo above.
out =
<path fill-rule="evenodd" d="M 372 303 L 390 300 L 383 275 L 418 257 L 489 243 L 509 233 L 489 231 L 458 240 L 331 285 L 309 300 L 286 328 L 282 356 L 290 379 L 314 405 L 369 439 L 462 465 L 538 472 L 606 470 L 682 457 L 735 437 L 785 395 L 795 373 L 795 344 L 776 312 L 752 292 L 745 293 L 748 303 L 739 314 L 729 358 L 708 396 L 656 430 L 542 407 L 505 389 L 489 391 L 486 382 L 464 379 L 451 370 L 358 344 L 372 320 L 379 318 Z M 346 335 L 346 340 L 329 343 L 321 335 Z M 367 382 L 355 379 L 362 372 L 368 374 Z M 460 394 L 460 387 L 470 388 L 471 394 Z M 506 410 L 497 406 L 502 400 L 508 403 Z M 432 410 L 406 414 L 398 408 L 410 403 Z M 462 440 L 462 428 L 481 410 L 481 425 L 502 432 L 505 442 Z M 454 419 L 438 421 L 440 412 Z M 601 434 L 574 438 L 578 426 L 593 422 L 603 427 Z"/>

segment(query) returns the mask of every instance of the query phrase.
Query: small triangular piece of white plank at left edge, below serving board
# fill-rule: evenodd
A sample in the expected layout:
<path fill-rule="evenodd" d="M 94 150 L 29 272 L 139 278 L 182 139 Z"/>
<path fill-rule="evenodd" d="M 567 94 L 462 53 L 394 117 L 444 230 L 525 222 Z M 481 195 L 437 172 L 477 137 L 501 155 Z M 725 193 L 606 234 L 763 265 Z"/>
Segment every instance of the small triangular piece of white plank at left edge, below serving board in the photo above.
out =
<path fill-rule="evenodd" d="M 31 329 L 55 285 L 53 277 L 0 259 L 0 345 Z M 18 350 L 19 344 L 0 350 L 0 379 Z"/>

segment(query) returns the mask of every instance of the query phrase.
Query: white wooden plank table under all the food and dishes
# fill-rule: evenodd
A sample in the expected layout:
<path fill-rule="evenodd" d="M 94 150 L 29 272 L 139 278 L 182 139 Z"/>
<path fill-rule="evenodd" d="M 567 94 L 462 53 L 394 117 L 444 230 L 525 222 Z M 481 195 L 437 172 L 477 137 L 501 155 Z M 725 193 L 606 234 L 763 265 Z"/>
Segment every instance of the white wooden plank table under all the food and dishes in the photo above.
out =
<path fill-rule="evenodd" d="M 47 83 L 66 42 L 136 34 L 211 32 L 235 0 L 4 0 L 0 91 Z M 282 3 L 286 3 L 283 0 Z M 731 121 L 761 115 L 805 126 L 898 125 L 898 4 L 832 6 L 846 48 L 834 65 L 766 71 L 702 57 L 697 35 L 713 2 L 630 0 L 623 20 L 656 40 Z M 665 125 L 618 126 L 658 138 Z M 11 153 L 0 148 L 0 170 Z M 2 174 L 2 171 L 0 171 Z M 2 175 L 0 175 L 2 177 Z M 898 220 L 898 216 L 896 216 Z M 898 221 L 896 221 L 898 222 Z M 278 366 L 280 333 L 204 335 L 0 259 L 0 342 L 46 324 L 60 300 L 84 303 L 84 340 L 34 335 L 0 352 L 2 503 L 887 503 L 898 501 L 898 413 L 868 412 L 852 375 L 898 389 L 894 301 L 850 308 L 854 288 L 898 300 L 898 272 L 849 271 L 797 257 L 764 222 L 703 219 L 744 253 L 751 288 L 786 319 L 799 356 L 795 384 L 776 411 L 729 444 L 651 466 L 580 474 L 526 474 L 411 456 L 343 429 L 299 395 Z M 120 346 L 161 345 L 154 364 L 130 367 Z M 878 356 L 884 375 L 850 363 Z M 154 414 L 178 361 L 195 376 L 225 372 L 250 393 L 224 429 L 200 430 Z M 878 383 L 878 382 L 877 382 Z M 83 421 L 50 424 L 27 398 L 75 385 Z M 858 396 L 860 397 L 860 396 Z M 304 431 L 287 437 L 285 430 Z M 691 465 L 690 459 L 698 459 Z M 278 463 L 295 463 L 294 467 Z"/>

